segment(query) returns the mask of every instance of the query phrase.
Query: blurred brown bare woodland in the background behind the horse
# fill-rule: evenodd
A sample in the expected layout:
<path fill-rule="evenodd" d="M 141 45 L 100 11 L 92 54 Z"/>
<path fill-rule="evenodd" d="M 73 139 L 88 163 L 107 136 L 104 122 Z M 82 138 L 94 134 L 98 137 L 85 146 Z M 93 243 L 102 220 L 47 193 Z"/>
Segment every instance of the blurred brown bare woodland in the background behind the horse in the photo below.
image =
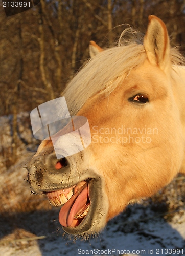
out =
<path fill-rule="evenodd" d="M 89 58 L 89 41 L 111 45 L 124 23 L 144 33 L 154 14 L 184 51 L 184 9 L 184 0 L 41 0 L 6 17 L 0 3 L 0 115 L 14 113 L 15 102 L 21 112 L 58 97 Z"/>

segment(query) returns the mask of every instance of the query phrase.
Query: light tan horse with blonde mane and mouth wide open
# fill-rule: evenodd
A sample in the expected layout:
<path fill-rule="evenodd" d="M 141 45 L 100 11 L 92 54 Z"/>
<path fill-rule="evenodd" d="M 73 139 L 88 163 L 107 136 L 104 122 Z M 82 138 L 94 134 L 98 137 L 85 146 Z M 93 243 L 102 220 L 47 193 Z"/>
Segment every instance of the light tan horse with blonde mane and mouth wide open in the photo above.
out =
<path fill-rule="evenodd" d="M 77 236 L 185 173 L 184 59 L 164 22 L 150 15 L 143 42 L 124 32 L 104 50 L 91 41 L 90 55 L 64 92 L 70 114 L 88 120 L 90 145 L 57 159 L 58 137 L 43 140 L 27 165 L 32 190 L 62 206 L 59 222 Z"/>

